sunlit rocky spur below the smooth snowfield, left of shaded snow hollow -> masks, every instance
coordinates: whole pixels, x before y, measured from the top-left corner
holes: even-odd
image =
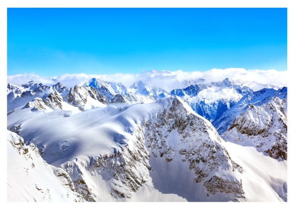
[[[132,145],[129,147],[129,145]],[[108,181],[111,189],[109,194],[113,198],[131,198],[132,192],[139,190],[148,180],[149,153],[144,145],[140,127],[128,139],[122,151],[112,155],[92,157],[89,164],[68,161],[60,167],[64,168],[72,177],[77,192],[90,202],[99,201],[93,193],[87,175],[112,177]],[[88,184],[87,184],[88,183]]]

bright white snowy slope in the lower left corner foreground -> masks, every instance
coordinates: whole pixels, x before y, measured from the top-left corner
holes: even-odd
[[[84,202],[71,177],[49,165],[33,144],[25,145],[18,134],[7,131],[7,201]]]

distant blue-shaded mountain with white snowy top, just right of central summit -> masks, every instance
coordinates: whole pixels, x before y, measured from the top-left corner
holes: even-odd
[[[234,80],[227,78],[219,82],[174,89],[171,95],[181,97],[196,113],[212,122],[250,92],[253,90],[249,87],[241,87]]]

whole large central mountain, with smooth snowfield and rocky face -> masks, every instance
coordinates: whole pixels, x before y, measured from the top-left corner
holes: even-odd
[[[245,200],[242,166],[211,123],[177,97],[70,117],[20,108],[7,118],[8,128],[17,127],[49,164],[68,172],[87,201],[143,201],[141,188],[174,201]]]

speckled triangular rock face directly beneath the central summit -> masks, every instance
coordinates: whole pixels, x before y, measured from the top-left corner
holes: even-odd
[[[172,133],[178,134],[179,139],[171,141]],[[145,123],[145,139],[154,157],[165,157],[166,161],[181,158],[183,164],[189,164],[189,170],[195,173],[196,183],[203,182],[221,165],[225,165],[225,170],[243,173],[242,167],[221,146],[221,138],[215,128],[191,113],[178,99],[174,99],[171,107],[159,113],[156,119]],[[242,189],[241,180],[234,184],[239,184]],[[237,194],[240,193],[244,192]],[[239,196],[243,197],[241,194]]]

